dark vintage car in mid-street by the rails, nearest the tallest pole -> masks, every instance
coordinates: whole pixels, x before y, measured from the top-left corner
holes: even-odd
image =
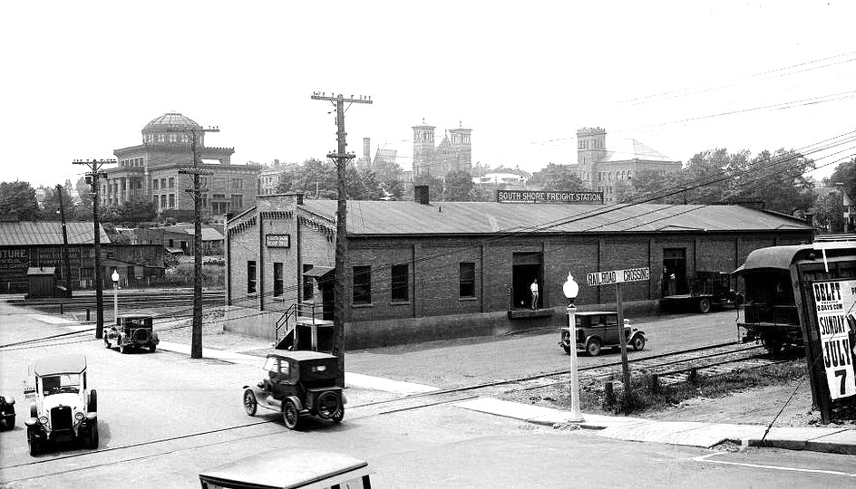
[[[279,411],[288,429],[297,429],[301,415],[338,423],[345,417],[345,396],[336,386],[338,359],[318,351],[274,350],[265,361],[266,378],[255,387],[244,386],[244,409]]]

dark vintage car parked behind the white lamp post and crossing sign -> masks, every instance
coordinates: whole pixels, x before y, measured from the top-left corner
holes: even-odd
[[[615,311],[577,312],[575,329],[577,349],[586,350],[592,357],[600,354],[603,348],[615,348],[621,344],[618,337],[618,312]],[[633,350],[645,348],[645,332],[630,326],[630,320],[624,320],[624,335],[627,346],[633,347]],[[567,326],[559,329],[559,345],[565,353],[570,353],[570,332]]]

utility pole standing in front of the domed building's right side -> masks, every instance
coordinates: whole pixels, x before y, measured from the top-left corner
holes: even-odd
[[[193,330],[190,337],[190,358],[202,358],[202,194],[207,188],[199,187],[199,175],[213,175],[214,170],[210,168],[199,168],[199,146],[197,133],[219,132],[217,128],[189,128],[184,130],[190,135],[190,153],[193,158],[193,166],[181,168],[180,174],[193,176],[193,187],[185,188],[193,197]]]

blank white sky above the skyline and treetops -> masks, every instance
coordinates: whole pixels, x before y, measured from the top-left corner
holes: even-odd
[[[0,20],[0,181],[53,186],[114,158],[167,112],[233,164],[336,149],[315,91],[412,168],[414,125],[472,129],[472,163],[576,162],[576,131],[669,158],[798,149],[832,173],[856,153],[856,3],[770,1],[14,2]],[[848,139],[848,136],[851,138]]]

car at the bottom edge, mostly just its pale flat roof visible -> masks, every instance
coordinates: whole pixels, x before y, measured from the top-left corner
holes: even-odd
[[[370,489],[365,460],[306,449],[277,449],[250,455],[199,474],[202,489],[283,487]]]

